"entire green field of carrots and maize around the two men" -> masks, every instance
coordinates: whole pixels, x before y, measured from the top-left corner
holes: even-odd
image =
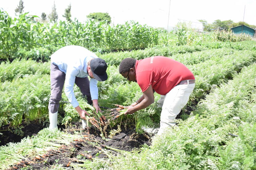
[[[2,170],[249,170],[256,169],[256,41],[230,32],[167,33],[135,22],[89,20],[42,24],[0,11],[0,169]],[[180,37],[182,36],[182,37]],[[98,82],[96,114],[77,86],[79,105],[97,120],[82,129],[64,92],[58,129],[49,130],[50,55],[81,45],[108,64]],[[192,71],[195,89],[162,136],[155,103],[133,115],[123,108],[142,92],[118,72],[122,59],[170,57]],[[104,117],[102,117],[104,116]],[[104,119],[103,119],[104,118]]]

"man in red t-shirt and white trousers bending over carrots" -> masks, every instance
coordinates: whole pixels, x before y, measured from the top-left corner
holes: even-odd
[[[133,114],[154,103],[154,92],[161,95],[158,101],[162,107],[158,135],[175,125],[174,119],[187,104],[195,87],[195,77],[185,65],[163,56],[142,60],[125,58],[119,65],[119,73],[127,80],[137,82],[143,93],[138,101],[127,107],[125,114]]]

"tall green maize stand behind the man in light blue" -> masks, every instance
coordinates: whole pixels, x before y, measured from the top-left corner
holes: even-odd
[[[19,51],[24,54],[34,49],[30,57],[46,61],[49,57],[45,56],[46,53],[51,54],[66,45],[80,45],[101,53],[145,49],[158,44],[161,32],[153,27],[139,25],[138,22],[126,22],[114,27],[94,20],[85,23],[78,20],[39,23],[31,20],[27,13],[12,19],[2,11],[0,21],[0,58],[3,60],[13,60],[20,57],[17,56]]]

